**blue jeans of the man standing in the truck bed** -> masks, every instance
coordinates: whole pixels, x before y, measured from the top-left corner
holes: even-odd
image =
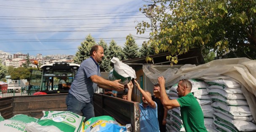
[[[85,120],[87,121],[91,117],[94,117],[93,101],[90,103],[82,103],[78,101],[75,96],[68,93],[66,98],[67,111],[80,114],[82,111]]]

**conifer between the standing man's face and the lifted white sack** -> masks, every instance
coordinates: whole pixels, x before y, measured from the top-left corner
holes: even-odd
[[[103,39],[101,39],[98,44],[104,49],[104,57],[102,62],[100,63],[100,69],[102,72],[109,72],[111,69],[113,69],[113,67],[110,65],[111,59],[109,58],[109,48],[107,46],[107,43]]]

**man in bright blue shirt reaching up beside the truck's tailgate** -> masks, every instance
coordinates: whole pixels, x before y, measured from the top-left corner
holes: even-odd
[[[141,132],[160,132],[157,120],[157,104],[151,98],[149,91],[141,89],[139,83],[134,80],[136,87],[142,94],[143,103],[139,104],[140,108],[140,131]]]

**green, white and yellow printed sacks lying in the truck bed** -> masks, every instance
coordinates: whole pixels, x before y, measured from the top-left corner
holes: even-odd
[[[17,114],[10,119],[0,115],[1,132],[130,132],[131,124],[121,126],[111,116],[85,117],[69,111],[43,111],[43,117],[36,119]]]

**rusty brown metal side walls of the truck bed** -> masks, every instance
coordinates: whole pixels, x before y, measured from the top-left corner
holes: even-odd
[[[0,113],[5,119],[16,114],[40,118],[42,111],[66,111],[66,96],[67,93],[0,98]],[[132,132],[140,131],[138,102],[94,93],[93,105],[95,116],[112,116],[122,125],[131,124]]]

